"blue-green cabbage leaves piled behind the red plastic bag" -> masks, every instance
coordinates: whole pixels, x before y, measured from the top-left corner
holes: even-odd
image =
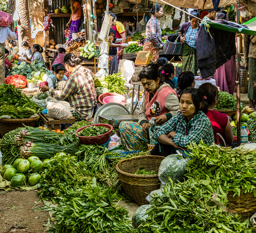
[[[34,73],[37,71],[40,71],[41,73],[46,73],[47,75],[50,75],[52,73],[50,70],[47,69],[46,65],[44,65],[43,62],[35,59],[33,62],[31,62],[30,65],[19,65],[13,68],[11,75],[23,75],[27,79],[31,80],[33,78]]]

